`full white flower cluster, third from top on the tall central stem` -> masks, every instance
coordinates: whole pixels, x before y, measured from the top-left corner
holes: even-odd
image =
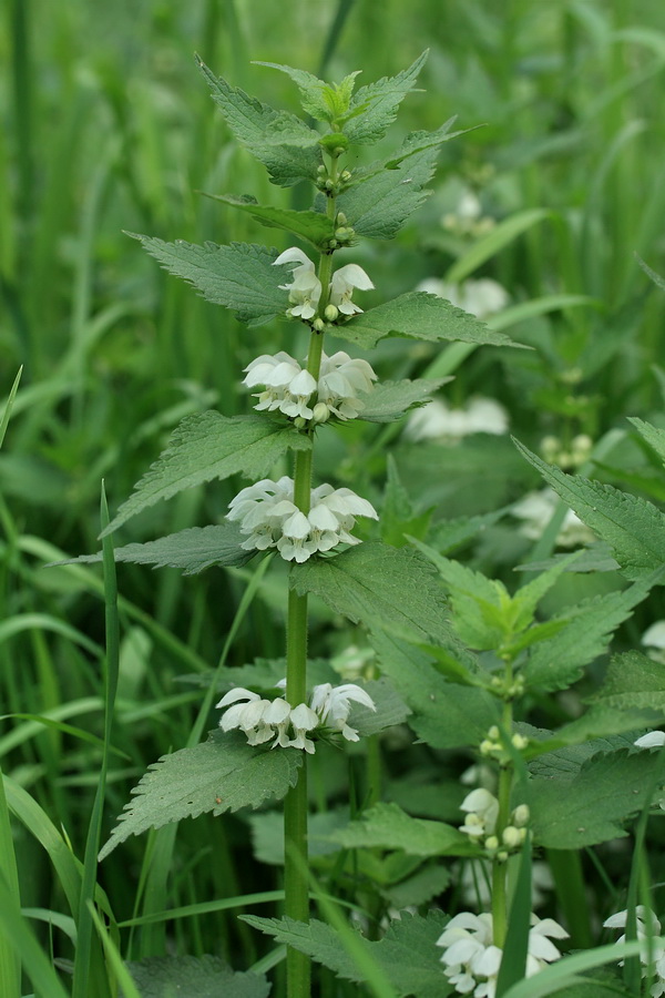
[[[359,544],[349,531],[356,517],[378,520],[374,506],[351,489],[323,485],[311,490],[310,509],[304,513],[294,502],[294,481],[264,478],[242,489],[228,503],[227,519],[238,520],[241,533],[248,534],[242,548],[265,551],[277,548],[286,561],[307,561],[317,551],[339,543]]]

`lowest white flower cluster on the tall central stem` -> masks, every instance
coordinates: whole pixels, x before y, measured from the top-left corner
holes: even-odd
[[[376,711],[371,696],[354,683],[341,686],[323,683],[314,688],[309,705],[299,703],[295,707],[282,697],[263,700],[258,693],[238,688],[229,690],[217,704],[228,707],[219,720],[219,727],[223,731],[239,729],[247,735],[249,745],[263,745],[274,739],[272,748],[280,745],[313,753],[314,742],[307,734],[315,727],[331,729],[349,742],[358,741],[358,732],[347,724],[352,702]]]

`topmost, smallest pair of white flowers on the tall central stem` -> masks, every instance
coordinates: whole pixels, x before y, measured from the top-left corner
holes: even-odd
[[[311,319],[315,317],[320,297],[323,294],[321,282],[316,276],[316,267],[308,256],[301,249],[291,246],[280,253],[274,264],[297,264],[293,267],[290,284],[280,284],[283,291],[288,292],[288,301],[291,308],[287,309],[288,315],[294,318]],[[335,322],[337,316],[355,315],[362,312],[351,302],[354,288],[359,291],[370,291],[374,284],[358,264],[347,264],[332,274],[329,286],[328,306],[326,308],[326,318]],[[332,310],[328,313],[328,308]]]

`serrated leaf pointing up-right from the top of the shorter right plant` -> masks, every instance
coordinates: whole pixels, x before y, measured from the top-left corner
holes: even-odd
[[[569,623],[553,638],[540,643],[524,664],[522,674],[528,685],[541,690],[561,690],[575,682],[582,669],[603,654],[616,628],[646,598],[659,578],[659,571],[623,592],[583,600],[560,618]]]

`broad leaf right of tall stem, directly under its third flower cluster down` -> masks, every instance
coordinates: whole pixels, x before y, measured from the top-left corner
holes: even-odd
[[[381,627],[427,640],[446,635],[444,599],[427,561],[408,548],[376,541],[332,558],[294,564],[290,584],[313,592],[354,623]]]

